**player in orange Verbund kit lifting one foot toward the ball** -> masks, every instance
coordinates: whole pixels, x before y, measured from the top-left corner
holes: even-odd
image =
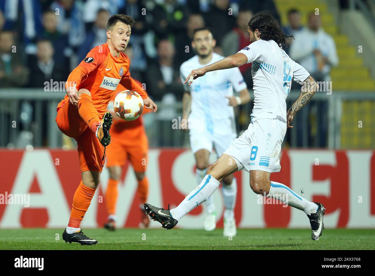
[[[129,58],[122,53],[134,22],[132,17],[122,14],[108,19],[107,43],[93,48],[71,72],[65,85],[66,96],[57,106],[57,126],[77,141],[82,173],[69,223],[63,232],[63,240],[69,243],[98,243],[83,234],[80,224],[100,182],[105,146],[111,142],[112,115],[106,110],[117,85],[136,91],[147,109],[157,110],[156,104],[130,77]]]

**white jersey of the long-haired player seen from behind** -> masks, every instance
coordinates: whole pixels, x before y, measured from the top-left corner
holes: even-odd
[[[290,92],[292,78],[301,84],[309,77],[309,72],[292,60],[273,40],[260,39],[238,53],[245,54],[248,63],[252,62],[251,73],[254,83],[252,121],[276,118],[287,122],[285,100]]]

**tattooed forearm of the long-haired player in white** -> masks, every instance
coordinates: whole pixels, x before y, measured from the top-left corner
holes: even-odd
[[[287,112],[288,128],[293,127],[292,125],[290,125],[293,121],[293,116],[296,115],[296,113],[311,100],[311,98],[315,95],[315,92],[317,92],[318,88],[319,87],[317,82],[314,80],[314,78],[311,77],[311,75],[309,75],[309,77],[306,78],[305,81],[303,81],[299,97]]]

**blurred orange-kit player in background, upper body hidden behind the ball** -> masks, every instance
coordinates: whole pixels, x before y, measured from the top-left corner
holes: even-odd
[[[129,49],[126,49],[126,53],[131,59],[131,54],[129,54]],[[130,52],[131,53],[131,52]],[[142,84],[135,80],[135,82],[142,87]],[[116,94],[120,93],[126,88],[117,89]],[[129,159],[133,166],[135,177],[138,181],[138,197],[140,203],[141,211],[141,226],[147,227],[150,223],[150,219],[145,214],[143,209],[143,204],[146,203],[148,194],[148,179],[145,176],[146,164],[147,164],[147,151],[148,151],[148,139],[146,136],[145,129],[143,127],[142,118],[139,117],[134,121],[124,121],[114,115],[113,112],[113,101],[115,95],[113,96],[110,104],[108,104],[108,110],[113,114],[114,121],[111,128],[111,136],[113,138],[113,143],[107,149],[107,163],[106,166],[110,172],[110,179],[108,181],[107,190],[105,192],[105,199],[108,212],[108,221],[105,223],[104,228],[114,231],[116,228],[115,216],[116,202],[117,202],[117,184],[121,177],[122,167],[126,161]],[[143,109],[143,114],[150,112],[148,109]],[[142,116],[141,115],[141,116]]]

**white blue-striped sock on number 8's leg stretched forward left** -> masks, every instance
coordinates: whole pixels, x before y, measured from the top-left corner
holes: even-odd
[[[213,176],[205,175],[198,187],[190,192],[180,205],[170,210],[172,217],[180,220],[181,217],[185,216],[199,204],[205,202],[219,186],[220,182]]]

